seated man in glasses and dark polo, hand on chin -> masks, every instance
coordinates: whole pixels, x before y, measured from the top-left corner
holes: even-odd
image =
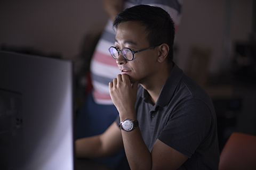
[[[122,74],[109,91],[119,116],[103,134],[78,139],[77,156],[107,156],[124,146],[131,169],[218,169],[214,108],[172,62],[170,15],[138,5],[119,13],[113,25],[115,47],[109,52]]]

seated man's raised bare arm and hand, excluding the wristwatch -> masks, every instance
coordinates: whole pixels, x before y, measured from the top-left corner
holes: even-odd
[[[119,112],[120,121],[125,118],[137,120],[135,114],[135,100],[137,97],[137,83],[131,86],[128,75],[117,75],[109,83],[110,96]],[[177,150],[156,140],[150,153],[142,139],[140,128],[131,132],[122,131],[125,154],[131,169],[177,169],[188,157]]]

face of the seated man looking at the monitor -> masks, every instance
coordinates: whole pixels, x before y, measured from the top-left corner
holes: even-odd
[[[133,51],[149,47],[145,26],[139,22],[122,22],[118,25],[115,47],[118,50],[130,48]],[[126,61],[120,54],[116,60],[122,74],[130,77],[131,83],[147,83],[154,80],[157,63],[157,47],[134,54],[132,61]],[[153,78],[153,79],[152,79]]]

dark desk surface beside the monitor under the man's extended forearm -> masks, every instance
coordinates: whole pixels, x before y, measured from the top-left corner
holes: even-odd
[[[94,162],[91,159],[77,158],[75,160],[75,170],[113,170],[105,165]]]

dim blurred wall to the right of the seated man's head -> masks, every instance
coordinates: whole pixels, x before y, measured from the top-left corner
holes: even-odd
[[[252,0],[184,1],[183,17],[177,32],[176,60],[184,69],[193,45],[212,50],[210,72],[229,66],[236,41],[246,41],[252,31]],[[226,52],[228,50],[228,52]]]

